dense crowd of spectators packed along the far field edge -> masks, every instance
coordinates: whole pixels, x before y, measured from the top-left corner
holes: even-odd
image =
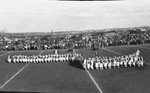
[[[0,35],[0,51],[47,50],[137,45],[150,43],[150,28],[111,29],[75,34]]]

